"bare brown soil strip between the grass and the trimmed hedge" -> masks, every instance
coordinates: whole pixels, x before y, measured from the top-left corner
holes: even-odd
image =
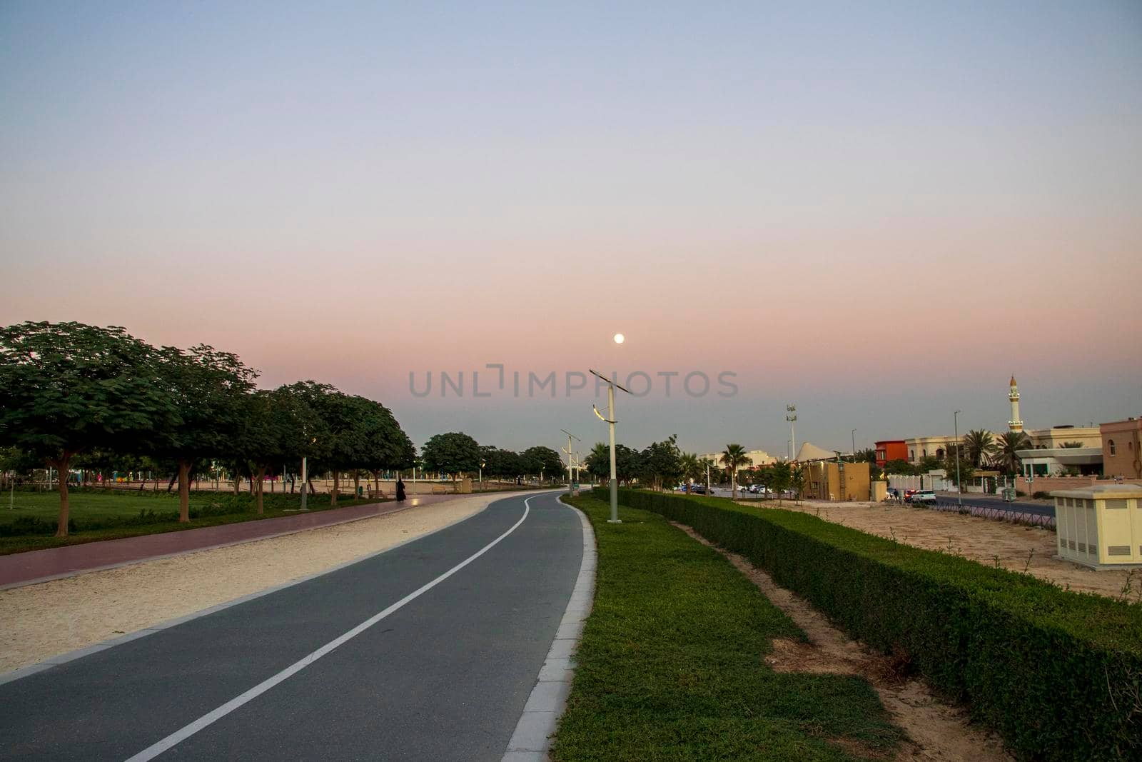
[[[689,527],[674,526],[699,543],[711,545]],[[765,661],[778,672],[860,675],[868,680],[892,721],[908,733],[909,740],[901,746],[896,760],[998,762],[1014,759],[1004,752],[998,736],[971,724],[963,709],[938,699],[923,681],[902,676],[901,665],[891,656],[874,653],[850,640],[803,599],[779,587],[765,571],[737,553],[717,550],[809,635],[809,643],[774,640],[773,652]],[[849,751],[876,756],[872,749],[850,747]]]

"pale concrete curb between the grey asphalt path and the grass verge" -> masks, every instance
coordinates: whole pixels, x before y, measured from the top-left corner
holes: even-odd
[[[560,503],[563,503],[562,497]],[[582,524],[582,562],[579,566],[579,577],[576,579],[574,589],[571,591],[571,600],[563,612],[552,648],[547,651],[547,659],[539,671],[536,687],[531,690],[520,722],[515,725],[515,732],[512,733],[512,740],[507,744],[502,762],[544,762],[548,759],[550,737],[555,733],[571,692],[574,651],[579,645],[584,621],[590,615],[595,600],[595,567],[598,561],[595,530],[592,529],[582,511],[568,503],[563,504],[579,514],[579,522]]]

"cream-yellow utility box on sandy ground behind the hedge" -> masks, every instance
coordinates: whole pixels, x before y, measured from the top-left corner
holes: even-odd
[[[1094,569],[1142,566],[1142,487],[1100,484],[1051,497],[1061,558]]]

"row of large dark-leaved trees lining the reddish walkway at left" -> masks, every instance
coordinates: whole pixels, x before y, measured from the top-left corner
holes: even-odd
[[[67,478],[77,456],[147,456],[177,470],[179,518],[190,521],[195,464],[262,476],[309,458],[314,471],[402,468],[412,442],[392,412],[328,384],[258,390],[258,372],[207,345],[154,347],[122,328],[24,322],[0,329],[0,447],[56,468],[58,536],[67,532]]]

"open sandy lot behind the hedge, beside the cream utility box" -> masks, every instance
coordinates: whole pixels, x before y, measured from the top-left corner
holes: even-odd
[[[1029,573],[1076,592],[1097,593],[1110,597],[1142,600],[1142,570],[1095,571],[1070,561],[1054,558],[1057,552],[1055,532],[1042,527],[1024,527],[958,513],[912,508],[890,503],[802,503],[788,500],[772,504],[741,503],[761,510],[769,507],[802,511],[819,515],[871,535],[892,538],[930,551],[955,553],[987,566],[996,563],[1012,571]],[[1032,553],[1034,551],[1034,553]]]

